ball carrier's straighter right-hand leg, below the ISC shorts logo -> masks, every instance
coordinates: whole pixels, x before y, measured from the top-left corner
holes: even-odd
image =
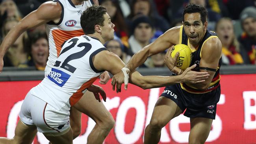
[[[190,118],[189,144],[204,144],[211,130],[213,119]]]

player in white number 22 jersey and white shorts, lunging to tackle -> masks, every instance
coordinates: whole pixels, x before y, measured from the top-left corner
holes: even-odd
[[[68,122],[70,107],[90,88],[100,72],[107,70],[116,74],[123,68],[122,60],[103,46],[114,38],[115,27],[106,8],[87,8],[81,16],[81,25],[87,35],[65,42],[51,72],[26,95],[14,140],[16,137],[26,137],[37,128],[53,144],[71,144],[72,130]],[[141,76],[134,71],[130,74],[130,83],[149,89],[180,82],[198,83],[208,78],[207,72],[193,72],[192,68],[195,65],[179,76]],[[7,138],[1,140],[7,141]]]

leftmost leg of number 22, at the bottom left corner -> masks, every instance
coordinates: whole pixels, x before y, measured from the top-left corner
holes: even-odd
[[[36,133],[36,126],[26,125],[19,120],[15,128],[15,136],[11,139],[0,138],[0,144],[31,144]]]

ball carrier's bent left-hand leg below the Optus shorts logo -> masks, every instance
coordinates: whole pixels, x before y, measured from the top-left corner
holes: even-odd
[[[157,144],[161,137],[161,129],[174,117],[180,115],[182,110],[169,98],[160,96],[150,120],[145,129],[145,144]]]

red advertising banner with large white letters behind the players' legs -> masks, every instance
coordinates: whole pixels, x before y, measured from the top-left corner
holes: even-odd
[[[0,82],[0,137],[12,138],[19,120],[20,106],[26,93],[40,81]],[[96,85],[100,85],[98,81]],[[111,84],[100,85],[107,93],[107,109],[116,124],[104,144],[142,144],[145,126],[150,121],[156,100],[164,88],[143,90],[129,85],[117,94]],[[82,133],[74,144],[86,144],[95,122],[82,116]],[[189,118],[180,115],[161,131],[160,144],[188,143]],[[48,144],[42,133],[37,133],[34,144]],[[221,75],[221,98],[216,119],[206,143],[256,143],[256,74]]]

